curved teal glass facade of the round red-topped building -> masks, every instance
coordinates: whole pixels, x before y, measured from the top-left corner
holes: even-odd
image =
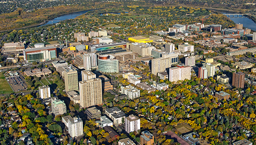
[[[109,59],[98,59],[98,70],[103,73],[119,72],[119,61]]]

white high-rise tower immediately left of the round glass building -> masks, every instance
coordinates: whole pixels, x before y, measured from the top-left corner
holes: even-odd
[[[83,55],[83,65],[85,70],[91,70],[96,68],[97,64],[97,54],[96,53],[86,53]]]

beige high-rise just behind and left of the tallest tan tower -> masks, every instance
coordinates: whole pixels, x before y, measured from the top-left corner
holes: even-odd
[[[64,70],[64,81],[66,92],[79,91],[77,71],[75,69],[69,67],[68,69]]]

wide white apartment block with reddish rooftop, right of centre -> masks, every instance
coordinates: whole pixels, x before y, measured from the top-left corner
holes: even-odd
[[[179,80],[191,79],[191,66],[177,65],[169,70],[169,81],[177,82]]]

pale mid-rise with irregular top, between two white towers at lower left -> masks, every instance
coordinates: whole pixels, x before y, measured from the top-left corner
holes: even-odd
[[[58,97],[51,98],[51,107],[52,107],[52,113],[57,115],[62,115],[67,113],[67,107],[64,101],[58,99]]]

